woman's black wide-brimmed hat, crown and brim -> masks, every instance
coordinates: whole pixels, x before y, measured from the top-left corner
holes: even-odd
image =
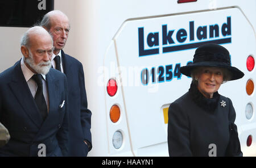
[[[188,77],[191,77],[191,71],[200,66],[217,67],[229,70],[232,74],[229,81],[240,79],[243,77],[243,72],[230,64],[229,51],[218,44],[205,44],[196,49],[193,63],[187,66],[182,66],[180,72]]]

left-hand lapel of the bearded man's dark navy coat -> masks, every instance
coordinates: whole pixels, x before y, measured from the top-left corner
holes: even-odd
[[[22,73],[20,67],[20,61],[14,65],[14,76],[13,80],[9,83],[13,94],[18,99],[20,106],[34,122],[34,124],[40,128],[43,122],[42,116],[39,113],[38,108],[36,107],[35,100],[31,94],[31,91],[27,85],[26,79]]]

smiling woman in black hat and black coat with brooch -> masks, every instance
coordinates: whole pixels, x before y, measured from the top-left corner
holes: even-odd
[[[244,75],[230,65],[228,50],[217,44],[202,45],[193,63],[180,72],[192,77],[192,83],[169,107],[170,156],[242,156],[232,101],[218,94],[222,83]]]

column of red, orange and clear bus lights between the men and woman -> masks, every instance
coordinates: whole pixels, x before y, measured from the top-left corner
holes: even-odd
[[[107,84],[107,92],[109,96],[113,97],[117,93],[117,89],[118,89],[117,81],[115,81],[115,79],[109,79]],[[121,116],[121,111],[117,104],[114,104],[110,108],[109,116],[112,123],[117,123],[119,121]],[[112,143],[115,149],[121,148],[123,144],[123,135],[121,131],[114,132]]]

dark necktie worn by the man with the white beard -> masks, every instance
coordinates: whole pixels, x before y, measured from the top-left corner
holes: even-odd
[[[44,99],[44,95],[43,95],[42,75],[34,74],[32,76],[32,79],[34,79],[34,81],[38,84],[38,90],[36,90],[36,94],[35,94],[35,102],[43,117],[43,120],[45,120],[48,112],[47,112],[46,100]]]

